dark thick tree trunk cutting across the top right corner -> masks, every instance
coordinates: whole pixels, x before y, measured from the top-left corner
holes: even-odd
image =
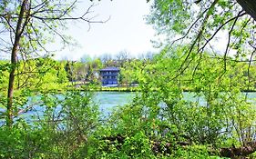
[[[242,9],[256,21],[256,2],[255,0],[237,0]]]

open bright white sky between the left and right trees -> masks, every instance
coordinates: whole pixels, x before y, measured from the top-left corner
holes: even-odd
[[[89,4],[87,1],[82,2],[76,14],[81,14]],[[105,21],[109,18],[108,22],[92,24],[90,29],[85,22],[70,24],[67,34],[77,40],[77,46],[57,52],[56,59],[78,60],[84,55],[115,55],[124,50],[133,56],[157,52],[158,49],[150,42],[154,39],[155,31],[145,20],[149,8],[146,0],[97,2],[91,15],[97,15],[95,20]]]

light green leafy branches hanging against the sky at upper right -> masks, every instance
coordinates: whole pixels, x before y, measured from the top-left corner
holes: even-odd
[[[179,64],[181,72],[189,67],[194,58],[192,53],[204,51],[222,55],[224,71],[229,56],[237,62],[252,62],[255,38],[251,33],[255,23],[236,1],[155,0],[148,24],[159,34],[167,35],[164,44],[169,48],[187,46],[183,51],[186,58]]]

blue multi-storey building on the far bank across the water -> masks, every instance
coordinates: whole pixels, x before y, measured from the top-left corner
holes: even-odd
[[[118,84],[118,74],[120,69],[118,67],[107,67],[99,70],[102,85]]]

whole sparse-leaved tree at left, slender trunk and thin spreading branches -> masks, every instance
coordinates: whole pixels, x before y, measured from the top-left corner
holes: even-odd
[[[11,55],[11,66],[8,77],[7,117],[6,124],[13,123],[13,99],[15,92],[15,77],[20,61],[38,57],[42,53],[49,55],[47,43],[59,37],[62,44],[69,44],[69,37],[63,35],[68,21],[94,21],[91,17],[90,4],[81,15],[74,14],[77,0],[2,0],[0,1],[0,50]]]

